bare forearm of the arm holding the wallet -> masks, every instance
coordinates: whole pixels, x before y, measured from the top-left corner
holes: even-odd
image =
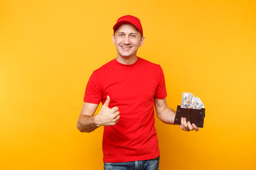
[[[173,109],[166,106],[165,108],[159,111],[156,110],[156,115],[162,122],[166,124],[174,124],[176,112]]]

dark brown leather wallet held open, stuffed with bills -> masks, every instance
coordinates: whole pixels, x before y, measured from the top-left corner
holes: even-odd
[[[203,128],[203,120],[206,117],[206,109],[181,108],[177,106],[174,124],[181,125],[181,118],[186,118],[191,124],[195,123],[198,128]]]

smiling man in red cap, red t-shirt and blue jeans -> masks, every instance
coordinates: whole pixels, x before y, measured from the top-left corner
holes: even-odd
[[[160,65],[137,57],[145,40],[139,18],[122,16],[113,30],[117,58],[92,73],[78,129],[92,132],[104,126],[105,169],[158,169],[154,106],[164,123],[174,124],[176,115],[166,104],[164,72]],[[100,101],[102,108],[94,115]],[[181,118],[181,129],[198,131],[185,118]]]

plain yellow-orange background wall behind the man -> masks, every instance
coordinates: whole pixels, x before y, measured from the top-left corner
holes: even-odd
[[[256,169],[255,1],[0,1],[0,169],[102,169],[102,130],[76,128],[87,80],[131,14],[167,102],[206,106],[204,128],[156,120],[160,169]]]

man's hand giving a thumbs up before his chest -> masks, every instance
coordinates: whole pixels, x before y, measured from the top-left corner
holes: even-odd
[[[115,106],[114,108],[109,108],[110,104],[110,96],[107,96],[107,100],[102,105],[102,108],[100,109],[100,113],[95,115],[95,123],[97,126],[102,125],[115,125],[119,118],[119,108]]]

